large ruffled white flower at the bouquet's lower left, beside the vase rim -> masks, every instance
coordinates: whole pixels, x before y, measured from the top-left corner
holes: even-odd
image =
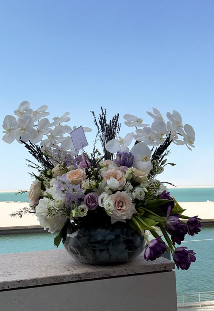
[[[48,216],[48,209],[52,209],[53,201],[47,197],[40,199],[39,204],[36,206],[36,216],[40,222],[40,226],[44,227],[44,230],[48,228],[48,232],[54,233],[57,230],[61,230],[66,222],[66,217],[61,213],[55,213],[55,215]]]

